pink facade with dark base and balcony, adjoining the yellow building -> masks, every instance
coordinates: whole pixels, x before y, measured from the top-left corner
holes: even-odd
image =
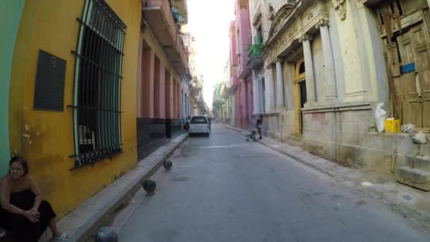
[[[188,53],[172,7],[170,1],[144,4],[136,90],[139,161],[180,134],[182,120],[189,114]],[[180,9],[186,13],[186,5]]]

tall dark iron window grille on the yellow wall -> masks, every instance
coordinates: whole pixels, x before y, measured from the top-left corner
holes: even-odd
[[[76,51],[74,168],[122,153],[121,69],[127,28],[104,0],[86,0]]]

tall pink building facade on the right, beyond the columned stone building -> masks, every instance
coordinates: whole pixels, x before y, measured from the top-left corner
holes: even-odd
[[[241,129],[249,129],[253,105],[252,76],[250,69],[246,67],[247,48],[252,45],[248,1],[236,1],[235,17],[231,25],[231,66],[234,70],[231,72],[231,83],[235,100],[235,125]]]

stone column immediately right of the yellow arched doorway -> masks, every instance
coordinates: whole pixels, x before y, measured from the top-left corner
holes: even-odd
[[[310,40],[312,36],[305,34],[299,38],[299,41],[303,44],[303,54],[305,56],[305,69],[306,69],[306,96],[308,100],[306,103],[315,103],[315,79],[313,76],[313,61],[312,61],[312,50],[310,50]]]

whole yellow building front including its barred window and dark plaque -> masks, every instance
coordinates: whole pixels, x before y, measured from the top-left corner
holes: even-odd
[[[11,155],[59,216],[136,164],[140,0],[26,1],[11,70]]]

